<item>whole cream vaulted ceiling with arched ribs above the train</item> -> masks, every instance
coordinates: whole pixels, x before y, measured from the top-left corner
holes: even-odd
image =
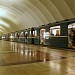
[[[0,0],[0,34],[74,16],[75,0]]]

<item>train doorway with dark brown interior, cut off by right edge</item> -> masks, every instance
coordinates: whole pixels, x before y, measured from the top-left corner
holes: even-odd
[[[75,23],[68,25],[68,47],[75,48]]]

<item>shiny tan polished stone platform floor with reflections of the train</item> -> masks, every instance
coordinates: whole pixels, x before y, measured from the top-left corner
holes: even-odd
[[[75,75],[75,51],[0,40],[0,75]]]

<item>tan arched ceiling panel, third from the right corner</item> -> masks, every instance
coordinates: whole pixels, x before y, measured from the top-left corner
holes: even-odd
[[[63,16],[50,0],[40,0],[40,2],[52,14],[52,16],[55,18],[55,21],[63,20]]]

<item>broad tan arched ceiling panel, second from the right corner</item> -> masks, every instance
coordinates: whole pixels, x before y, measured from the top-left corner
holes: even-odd
[[[51,0],[59,10],[64,19],[72,18],[74,15],[64,0]]]

